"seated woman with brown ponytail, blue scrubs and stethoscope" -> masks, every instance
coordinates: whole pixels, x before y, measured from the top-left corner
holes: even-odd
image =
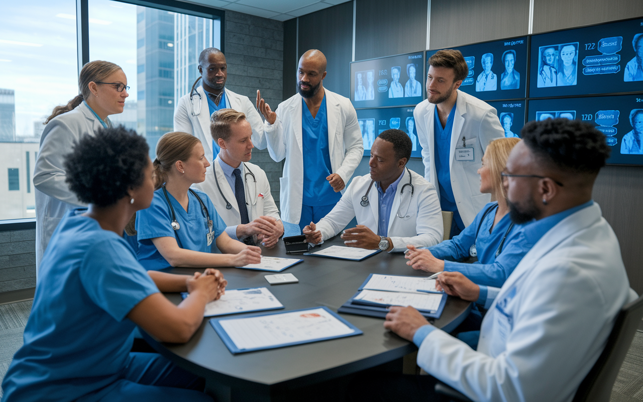
[[[261,262],[261,249],[231,239],[210,198],[190,188],[205,180],[208,166],[201,141],[191,134],[168,132],[156,145],[154,199],[136,213],[138,260],[146,270]],[[210,252],[213,241],[224,254]]]

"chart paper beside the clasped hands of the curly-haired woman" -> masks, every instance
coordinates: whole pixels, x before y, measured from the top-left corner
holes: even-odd
[[[181,296],[186,298],[188,293],[181,293]],[[267,288],[226,289],[226,294],[219,300],[213,300],[205,305],[203,316],[212,317],[283,308],[284,306]]]

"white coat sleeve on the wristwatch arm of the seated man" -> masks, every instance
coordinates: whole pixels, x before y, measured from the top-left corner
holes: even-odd
[[[390,252],[406,251],[406,244],[413,244],[416,247],[431,247],[442,241],[444,237],[444,223],[442,221],[442,208],[437,192],[433,185],[427,183],[428,187],[420,194],[417,201],[417,219],[415,220],[415,233],[413,237],[393,237],[393,250]],[[395,216],[395,219],[399,219]],[[409,224],[411,224],[409,222]]]

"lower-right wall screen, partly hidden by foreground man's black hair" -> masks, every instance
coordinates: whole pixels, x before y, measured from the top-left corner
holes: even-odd
[[[643,165],[643,95],[532,99],[529,120],[566,117],[590,122],[607,136],[610,165]]]

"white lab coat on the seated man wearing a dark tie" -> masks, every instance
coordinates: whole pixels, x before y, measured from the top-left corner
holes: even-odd
[[[219,179],[219,187],[221,187],[221,192],[223,196],[226,197],[232,208],[226,209],[226,201],[224,201],[219,189],[217,189],[217,183],[214,179],[214,167],[216,165],[216,174],[217,179]],[[247,180],[244,180],[244,193],[246,194],[246,208],[248,208],[248,217],[250,222],[254,221],[258,217],[265,215],[271,216],[275,219],[281,220],[279,217],[279,210],[275,205],[275,200],[273,199],[272,194],[270,193],[270,183],[268,183],[268,178],[266,177],[266,172],[257,165],[246,162],[247,169],[242,171],[242,176],[245,176],[246,173],[251,171],[257,179],[257,187],[255,192],[255,183],[252,179],[252,176],[248,174],[246,176]],[[237,204],[237,199],[235,198],[235,193],[230,187],[230,183],[226,179],[226,176],[221,170],[218,160],[214,160],[212,165],[206,169],[205,180],[202,183],[196,183],[192,187],[198,188],[203,191],[205,194],[208,194],[210,200],[214,204],[217,214],[223,219],[226,223],[226,226],[235,226],[241,224],[241,215],[239,214],[239,205]],[[256,196],[256,197],[255,197]],[[255,203],[256,202],[256,203]],[[253,205],[255,203],[255,205]]]

